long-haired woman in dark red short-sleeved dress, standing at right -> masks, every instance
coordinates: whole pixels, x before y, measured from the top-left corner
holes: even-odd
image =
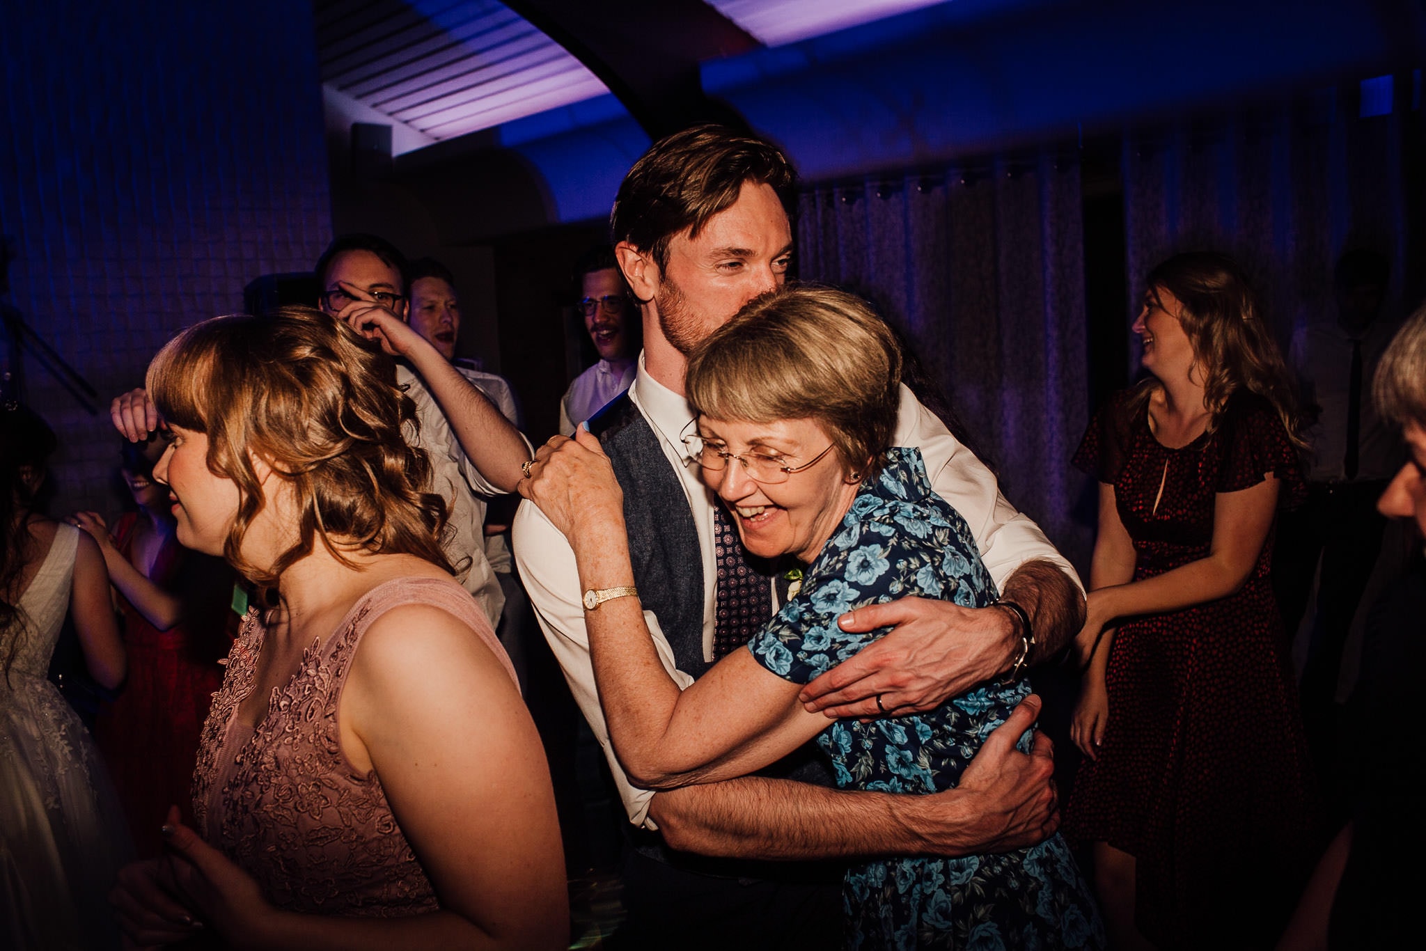
[[[1306,492],[1296,411],[1232,259],[1181,254],[1147,284],[1148,376],[1074,458],[1099,480],[1099,533],[1065,833],[1092,844],[1115,947],[1259,947],[1315,833],[1269,579],[1273,516]]]

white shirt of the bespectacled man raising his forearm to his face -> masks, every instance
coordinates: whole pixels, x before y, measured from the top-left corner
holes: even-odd
[[[455,569],[455,580],[481,603],[493,627],[505,607],[505,592],[485,555],[485,499],[502,495],[465,455],[451,423],[421,376],[396,362],[396,384],[416,403],[419,433],[408,431],[408,442],[431,456],[431,490],[446,500],[449,518],[441,548]]]

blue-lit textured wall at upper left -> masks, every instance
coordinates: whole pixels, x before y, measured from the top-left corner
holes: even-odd
[[[244,284],[309,268],[331,238],[312,13],[7,4],[0,70],[9,301],[98,391],[91,413],[24,358],[27,399],[61,436],[53,509],[110,512],[110,398],[174,331],[240,309]]]

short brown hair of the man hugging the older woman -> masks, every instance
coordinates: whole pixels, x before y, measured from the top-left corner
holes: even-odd
[[[669,241],[696,238],[737,201],[744,181],[771,185],[790,207],[797,173],[780,148],[724,125],[693,125],[649,147],[619,185],[609,230],[615,242],[647,251],[665,268]]]

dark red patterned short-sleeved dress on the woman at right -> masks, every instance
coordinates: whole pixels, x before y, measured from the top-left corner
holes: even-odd
[[[1281,505],[1305,495],[1266,399],[1236,392],[1214,432],[1181,449],[1154,438],[1147,402],[1131,413],[1129,401],[1124,392],[1099,411],[1074,462],[1114,485],[1135,580],[1209,553],[1216,493],[1272,472]],[[1318,854],[1271,565],[1269,535],[1236,595],[1121,624],[1104,747],[1065,807],[1072,840],[1138,860],[1135,921],[1161,948],[1271,947]]]

